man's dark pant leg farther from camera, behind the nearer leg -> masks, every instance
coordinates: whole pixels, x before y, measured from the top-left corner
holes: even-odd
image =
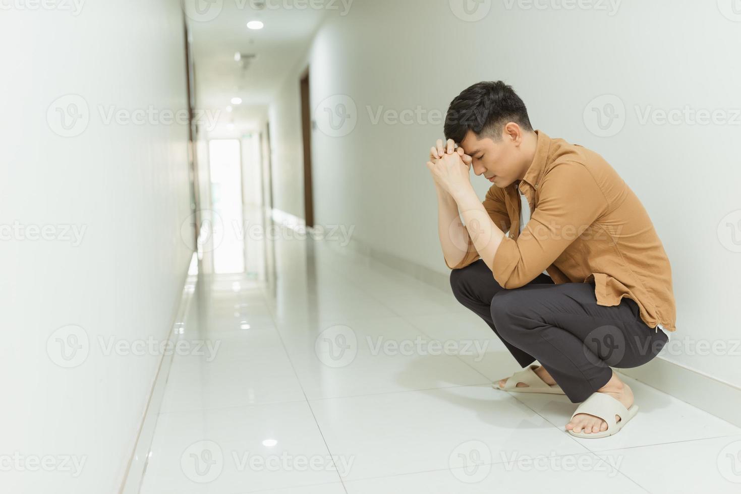
[[[531,284],[541,283],[553,285],[554,281],[550,276],[542,273],[531,281]],[[491,320],[491,299],[494,298],[496,293],[504,289],[496,282],[491,270],[482,259],[461,269],[453,270],[451,272],[451,288],[456,299],[478,314],[496,333],[496,336],[499,336],[499,339],[514,356],[520,367],[526,367],[535,361],[533,356],[502,338],[496,330],[494,321]]]

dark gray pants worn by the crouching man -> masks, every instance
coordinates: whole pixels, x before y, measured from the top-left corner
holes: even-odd
[[[639,367],[668,340],[642,321],[630,298],[613,307],[597,305],[594,282],[554,284],[540,274],[524,287],[505,290],[479,259],[453,270],[451,287],[522,368],[537,359],[573,403],[607,384],[611,367]]]

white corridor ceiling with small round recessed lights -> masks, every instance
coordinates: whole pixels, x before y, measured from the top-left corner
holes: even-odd
[[[197,105],[199,109],[221,111],[219,124],[209,133],[210,137],[242,136],[257,130],[265,121],[268,104],[304,55],[327,13],[327,10],[291,8],[296,4],[301,2],[216,0],[210,4],[216,10],[201,16],[191,15],[185,7],[196,72]],[[247,21],[253,20],[264,22],[265,27],[247,29]],[[238,62],[234,60],[237,52],[256,57]],[[242,104],[230,104],[236,96],[242,99]],[[233,110],[227,113],[230,105]],[[233,123],[233,127],[227,127],[228,123]]]

